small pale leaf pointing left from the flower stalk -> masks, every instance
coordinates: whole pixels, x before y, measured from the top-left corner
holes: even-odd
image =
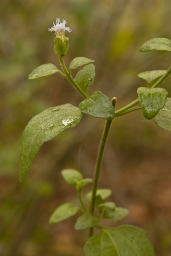
[[[51,63],[40,65],[34,69],[30,75],[28,75],[28,80],[36,79],[39,77],[46,77],[47,75],[52,75],[58,72],[59,69]]]

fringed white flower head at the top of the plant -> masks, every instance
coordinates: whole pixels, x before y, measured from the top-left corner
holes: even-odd
[[[65,31],[72,31],[70,27],[66,27],[66,23],[66,19],[63,19],[63,21],[60,22],[60,18],[57,18],[56,24],[53,22],[54,26],[52,26],[51,29],[48,29],[48,31],[55,31],[56,37],[60,38],[64,42],[66,41]]]

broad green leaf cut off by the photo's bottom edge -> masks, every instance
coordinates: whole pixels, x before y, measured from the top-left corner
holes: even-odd
[[[103,229],[88,239],[86,256],[154,256],[146,233],[134,226]]]

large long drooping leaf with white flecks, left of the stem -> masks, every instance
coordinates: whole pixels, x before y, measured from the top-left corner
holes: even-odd
[[[19,159],[19,178],[21,181],[43,142],[49,141],[69,127],[76,126],[81,118],[82,113],[78,107],[64,104],[44,110],[28,122],[21,139]]]

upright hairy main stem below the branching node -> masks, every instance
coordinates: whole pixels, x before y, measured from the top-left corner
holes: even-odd
[[[101,160],[103,158],[104,147],[105,147],[105,143],[107,141],[107,137],[108,137],[108,133],[109,133],[111,123],[112,123],[112,120],[107,120],[106,123],[105,123],[103,136],[101,138],[99,153],[98,153],[98,156],[97,156],[95,177],[94,177],[93,189],[92,189],[92,199],[91,199],[91,214],[92,215],[93,215],[94,209],[95,209],[96,190],[97,190],[97,184],[98,184],[98,180],[99,180]],[[92,234],[93,234],[93,227],[91,227],[89,229],[89,237],[92,237]]]

